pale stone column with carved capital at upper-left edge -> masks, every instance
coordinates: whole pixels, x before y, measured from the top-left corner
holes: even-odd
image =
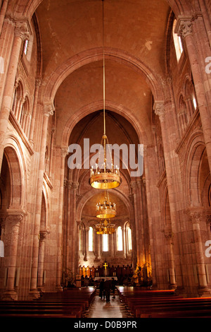
[[[6,78],[6,84],[4,88],[4,96],[1,105],[0,112],[0,167],[4,155],[4,139],[6,137],[6,130],[8,124],[8,117],[11,112],[13,103],[13,90],[15,85],[15,76],[18,69],[18,60],[20,56],[20,49],[25,40],[29,36],[27,24],[16,23],[15,25],[15,37],[13,40],[13,49],[11,52],[11,60],[8,67],[8,74]]]

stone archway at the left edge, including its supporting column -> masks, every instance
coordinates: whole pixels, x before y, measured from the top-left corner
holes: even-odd
[[[23,210],[23,174],[20,160],[15,149],[6,146],[1,167],[1,181],[4,181],[4,206],[1,208],[3,223],[1,225],[2,241],[5,244],[4,268],[7,276],[1,275],[1,293],[3,300],[17,300],[18,294],[15,290],[15,276],[17,276],[17,253],[20,233],[20,223],[25,216]],[[8,245],[10,244],[10,245]]]

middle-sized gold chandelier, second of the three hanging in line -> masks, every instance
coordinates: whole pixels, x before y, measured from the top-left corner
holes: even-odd
[[[117,214],[117,206],[109,201],[108,193],[105,194],[103,203],[96,203],[96,217],[101,219],[114,218]]]

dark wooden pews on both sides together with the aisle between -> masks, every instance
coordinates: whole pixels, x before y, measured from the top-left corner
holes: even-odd
[[[117,286],[110,303],[95,287],[43,294],[32,301],[1,301],[0,318],[142,319],[211,318],[211,297],[181,297],[174,290]]]

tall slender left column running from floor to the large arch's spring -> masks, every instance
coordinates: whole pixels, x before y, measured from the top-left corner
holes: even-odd
[[[31,280],[30,280],[30,297],[39,297],[39,291],[37,290],[37,268],[39,257],[39,232],[40,232],[40,218],[41,218],[41,198],[42,198],[42,186],[44,179],[44,167],[45,167],[45,151],[46,151],[46,136],[49,123],[49,116],[53,115],[53,105],[46,103],[44,105],[43,124],[41,129],[41,146],[39,152],[39,170],[37,179],[37,196],[35,203],[35,215],[34,215],[34,235],[33,235],[33,247],[32,247],[32,268],[31,268]]]

